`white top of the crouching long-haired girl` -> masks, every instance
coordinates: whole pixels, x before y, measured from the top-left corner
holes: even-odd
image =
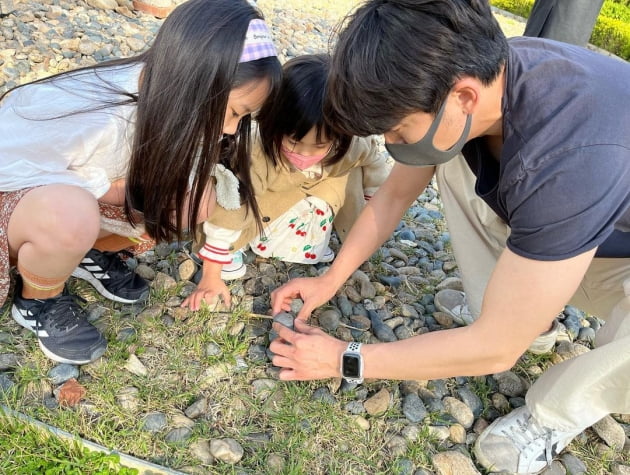
[[[142,64],[29,84],[0,103],[0,191],[67,184],[96,198],[125,177],[136,106],[109,89],[137,93]],[[109,86],[108,86],[109,85]],[[60,117],[81,110],[78,114]]]

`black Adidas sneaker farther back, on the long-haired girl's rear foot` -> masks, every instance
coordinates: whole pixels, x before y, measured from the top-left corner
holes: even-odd
[[[88,281],[103,297],[136,303],[149,296],[149,284],[129,269],[118,252],[90,249],[72,275]]]

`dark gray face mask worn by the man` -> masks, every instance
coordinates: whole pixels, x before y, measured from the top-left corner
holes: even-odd
[[[444,101],[444,104],[440,107],[440,110],[435,116],[435,120],[431,124],[431,127],[429,127],[427,133],[416,143],[385,144],[385,148],[392,158],[404,165],[411,165],[413,167],[430,167],[446,163],[461,152],[462,148],[464,148],[464,145],[466,145],[466,142],[468,141],[472,115],[468,114],[466,117],[464,131],[459,137],[457,143],[448,150],[439,150],[433,145],[433,139],[435,138],[437,128],[442,121],[444,109],[446,109],[446,101]]]

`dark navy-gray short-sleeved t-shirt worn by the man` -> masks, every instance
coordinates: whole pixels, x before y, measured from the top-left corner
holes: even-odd
[[[464,147],[476,192],[510,226],[507,246],[561,260],[599,246],[630,257],[630,64],[577,46],[512,38],[500,161]]]

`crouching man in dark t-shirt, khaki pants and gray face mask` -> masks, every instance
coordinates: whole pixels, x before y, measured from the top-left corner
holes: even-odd
[[[607,319],[597,347],[547,370],[525,406],[480,434],[477,462],[538,472],[599,419],[630,413],[628,84],[626,62],[508,42],[484,0],[360,7],[337,41],[328,117],[351,135],[384,134],[398,163],[328,272],[272,294],[274,312],[304,301],[295,331],[274,326],[280,378],[498,373],[571,303]],[[475,320],[359,347],[308,327],[434,175]]]

